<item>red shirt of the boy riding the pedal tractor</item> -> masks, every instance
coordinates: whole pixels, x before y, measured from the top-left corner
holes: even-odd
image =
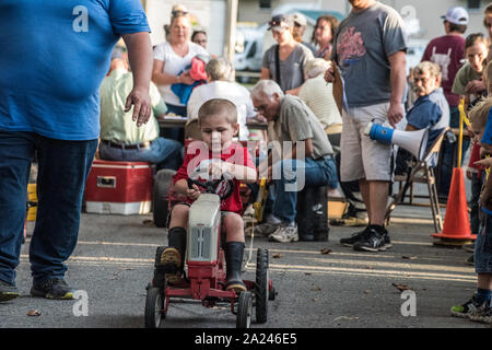
[[[178,168],[176,175],[173,177],[174,183],[176,184],[179,179],[188,179],[188,175],[191,174],[191,172],[196,170],[202,161],[211,159],[212,152],[207,148],[206,143],[201,141],[194,141],[190,145],[188,145],[185,161]],[[221,160],[235,165],[244,165],[256,170],[247,148],[244,148],[237,143],[232,143],[225,152],[221,153]],[[241,182],[236,178],[234,178],[233,182],[234,191],[230,197],[221,201],[221,210],[241,214],[243,210],[243,202],[241,201],[239,196]],[[188,203],[192,202],[189,198],[187,198],[186,201]]]

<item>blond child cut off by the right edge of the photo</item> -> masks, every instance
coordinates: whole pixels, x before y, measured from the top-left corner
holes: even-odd
[[[476,162],[488,168],[492,165],[492,97],[483,100],[470,113],[476,142],[480,143],[485,159]],[[488,172],[487,172],[488,173]],[[475,269],[478,275],[477,292],[462,305],[453,306],[452,315],[471,320],[492,323],[492,177],[487,174],[480,196],[481,232],[477,235]]]

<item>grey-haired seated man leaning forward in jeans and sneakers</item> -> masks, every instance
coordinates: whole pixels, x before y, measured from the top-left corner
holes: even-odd
[[[271,241],[295,242],[297,191],[304,186],[337,187],[333,150],[309,107],[297,96],[284,95],[274,81],[260,80],[251,90],[251,98],[258,114],[269,121],[269,141],[277,141],[283,153],[276,162],[273,150],[260,164],[260,171],[268,168],[268,178],[274,187],[274,221],[266,223],[268,229],[261,231],[263,234],[270,231]]]

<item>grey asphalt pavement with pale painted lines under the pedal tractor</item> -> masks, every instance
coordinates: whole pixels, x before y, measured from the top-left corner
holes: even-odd
[[[256,248],[268,248],[278,295],[269,303],[268,322],[251,328],[489,327],[449,316],[449,307],[476,289],[473,267],[465,264],[470,254],[432,244],[430,208],[398,207],[394,218],[388,228],[394,247],[377,254],[339,245],[359,228],[331,226],[328,242],[280,244],[255,237],[244,278],[255,279]],[[30,295],[27,240],[16,269],[22,296],[0,304],[0,327],[143,327],[145,285],[155,249],[166,243],[166,231],[153,225],[151,214],[83,213],[66,276],[82,291],[80,299],[50,301]],[[163,327],[234,328],[235,319],[229,306],[179,302],[171,304]]]

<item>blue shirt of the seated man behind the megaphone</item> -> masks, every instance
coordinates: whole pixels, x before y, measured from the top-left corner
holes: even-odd
[[[429,149],[441,131],[449,126],[449,105],[443,89],[438,88],[429,95],[417,98],[407,114],[407,121],[419,130],[429,127]]]

